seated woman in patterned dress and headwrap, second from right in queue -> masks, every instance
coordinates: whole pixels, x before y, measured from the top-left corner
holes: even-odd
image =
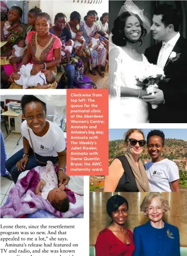
[[[83,31],[83,37],[86,41],[85,46],[89,44],[90,38],[94,36],[94,33],[98,30],[96,21],[96,11],[88,11],[85,17],[85,21],[81,21],[80,27]],[[92,55],[92,68],[97,67],[99,74],[104,77],[104,73],[101,70],[102,66],[106,63],[106,49],[91,50]]]

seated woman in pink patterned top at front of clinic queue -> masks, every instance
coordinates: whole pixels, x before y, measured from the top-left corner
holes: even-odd
[[[35,75],[41,70],[55,67],[61,59],[61,41],[49,32],[51,18],[47,13],[39,13],[35,21],[35,31],[26,37],[28,49],[21,62],[22,65],[32,63],[31,74]]]

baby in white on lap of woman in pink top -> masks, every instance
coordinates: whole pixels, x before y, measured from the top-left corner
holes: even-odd
[[[33,64],[22,65],[20,71],[10,75],[10,82],[15,82],[23,89],[28,87],[37,87],[38,89],[47,89],[56,80],[56,74],[52,70],[44,70],[38,72],[36,75],[31,75]],[[48,84],[46,84],[48,83]]]

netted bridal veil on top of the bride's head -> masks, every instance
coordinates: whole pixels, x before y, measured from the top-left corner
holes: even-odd
[[[122,14],[123,12],[128,12],[130,15],[138,15],[140,18],[140,24],[146,29],[147,34],[150,32],[150,22],[147,17],[143,14],[143,10],[140,10],[138,6],[136,6],[132,1],[127,0],[122,6],[121,10],[118,14]]]

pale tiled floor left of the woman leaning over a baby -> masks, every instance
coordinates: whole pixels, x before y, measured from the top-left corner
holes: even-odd
[[[3,131],[3,125],[2,125],[2,132],[4,138],[6,137],[6,132]],[[17,146],[17,141],[19,140],[21,136],[21,133],[11,133],[7,136],[5,139],[5,150],[7,158],[11,157],[23,148],[23,140],[19,142],[19,145]],[[8,197],[8,193],[11,190],[11,188],[14,186],[13,181],[8,180],[7,178],[1,177],[1,206],[6,202],[6,199]]]

